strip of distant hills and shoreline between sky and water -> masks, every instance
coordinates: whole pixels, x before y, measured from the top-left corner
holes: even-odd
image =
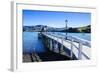
[[[36,25],[36,26],[23,26],[23,31],[31,31],[31,32],[44,32],[46,29],[47,32],[69,32],[69,33],[91,33],[91,25],[83,26],[83,27],[64,27],[64,28],[54,28],[44,25]]]

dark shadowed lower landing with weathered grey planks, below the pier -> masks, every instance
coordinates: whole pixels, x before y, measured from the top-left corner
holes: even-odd
[[[43,62],[43,61],[63,61],[63,60],[71,60],[71,59],[67,56],[55,53],[53,51],[23,55],[23,62]]]

